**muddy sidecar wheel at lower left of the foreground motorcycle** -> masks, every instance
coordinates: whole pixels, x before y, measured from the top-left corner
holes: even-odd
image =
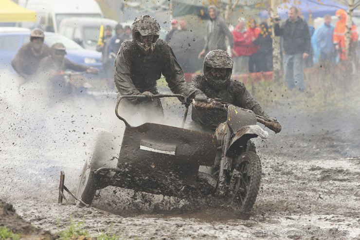
[[[95,196],[97,185],[99,184],[99,177],[91,171],[90,167],[85,164],[83,171],[80,176],[79,185],[76,191],[76,197],[81,199],[86,204],[91,204]],[[84,206],[83,203],[79,202],[79,206]]]

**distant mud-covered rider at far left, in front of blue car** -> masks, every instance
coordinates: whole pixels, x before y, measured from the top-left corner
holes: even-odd
[[[11,61],[14,70],[27,80],[38,71],[40,60],[50,54],[50,48],[44,44],[44,38],[41,29],[33,29],[30,33],[30,42],[24,44]]]

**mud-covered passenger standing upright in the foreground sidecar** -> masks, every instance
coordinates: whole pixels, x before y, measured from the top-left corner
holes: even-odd
[[[184,74],[170,46],[159,39],[160,25],[155,18],[143,15],[132,24],[132,39],[122,43],[115,59],[115,85],[121,95],[144,95],[146,98],[127,98],[129,114],[138,112],[134,107],[141,106],[145,117],[163,117],[162,103],[159,98],[156,81],[165,77],[171,92],[182,94],[186,99],[203,95],[188,87]],[[200,96],[198,96],[200,97]],[[206,98],[203,95],[203,98]],[[124,111],[123,111],[124,113]],[[149,119],[148,121],[156,121]]]

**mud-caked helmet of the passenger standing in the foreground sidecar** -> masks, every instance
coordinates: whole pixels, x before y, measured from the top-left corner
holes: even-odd
[[[149,15],[142,15],[135,19],[131,26],[132,39],[135,41],[136,45],[145,53],[151,54],[154,49],[157,40],[160,36],[160,24],[155,19]],[[152,42],[143,43],[140,39],[141,36],[154,35]]]

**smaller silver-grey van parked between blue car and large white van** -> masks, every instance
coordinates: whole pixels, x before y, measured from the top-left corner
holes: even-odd
[[[117,21],[107,18],[65,18],[59,26],[59,33],[77,42],[83,48],[95,50],[99,40],[100,27],[115,28]],[[115,34],[115,31],[113,31]]]

